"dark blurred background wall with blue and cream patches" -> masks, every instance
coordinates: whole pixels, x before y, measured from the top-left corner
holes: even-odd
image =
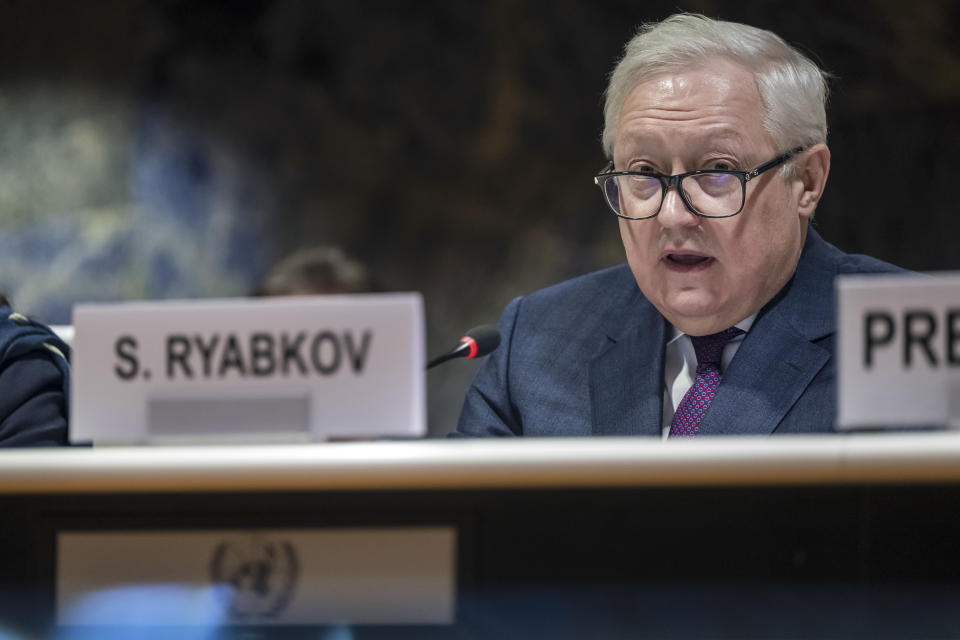
[[[828,240],[960,268],[957,2],[0,0],[0,290],[68,323],[79,301],[246,295],[337,245],[423,292],[439,353],[623,260],[591,180],[602,92],[678,9],[836,76]],[[474,368],[428,376],[432,434]]]

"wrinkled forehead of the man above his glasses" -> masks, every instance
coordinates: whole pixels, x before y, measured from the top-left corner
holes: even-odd
[[[638,82],[620,109],[614,148],[634,141],[761,145],[768,140],[763,117],[754,75],[736,63],[715,61]]]

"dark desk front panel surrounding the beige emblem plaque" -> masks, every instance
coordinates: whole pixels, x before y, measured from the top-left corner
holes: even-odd
[[[0,620],[52,633],[61,533],[439,527],[454,624],[353,637],[960,637],[958,505],[953,482],[7,494]],[[221,633],[317,633],[260,622]]]

